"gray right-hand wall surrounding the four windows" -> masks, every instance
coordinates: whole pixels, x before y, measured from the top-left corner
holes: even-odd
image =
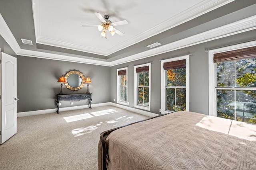
[[[161,107],[161,62],[160,60],[169,59],[186,55],[190,56],[190,111],[208,115],[208,53],[205,49],[215,49],[256,40],[256,30],[248,31],[217,39],[207,43],[194,45],[184,49],[171,51],[161,55],[148,57],[130,63],[112,66],[110,69],[110,100],[117,98],[116,69],[128,66],[128,102],[129,107],[134,107],[134,65],[151,62],[151,112],[158,113]],[[114,102],[116,103],[116,102]]]

